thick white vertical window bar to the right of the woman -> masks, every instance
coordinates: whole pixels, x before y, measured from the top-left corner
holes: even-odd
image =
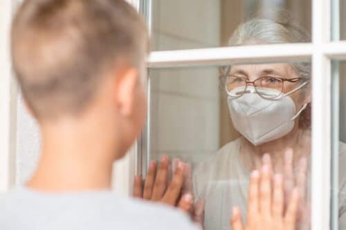
[[[323,48],[331,36],[331,1],[312,3],[311,229],[322,230],[330,220],[331,63]]]

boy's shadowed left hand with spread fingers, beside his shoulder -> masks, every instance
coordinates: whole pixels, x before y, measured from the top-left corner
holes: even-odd
[[[159,166],[157,166],[155,161],[150,162],[144,189],[142,178],[136,175],[134,180],[134,197],[163,202],[170,206],[176,206],[183,211],[190,211],[194,200],[192,194],[185,193],[181,195],[185,167],[185,164],[179,161],[170,184],[167,184],[170,173],[169,157],[163,155]]]

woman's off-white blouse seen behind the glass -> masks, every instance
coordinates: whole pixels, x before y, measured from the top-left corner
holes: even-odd
[[[205,230],[229,230],[233,206],[240,207],[246,220],[249,173],[239,159],[241,138],[226,144],[194,169],[196,201],[206,200]],[[339,146],[339,229],[346,229],[346,144],[340,142]],[[309,170],[308,198],[310,174]]]

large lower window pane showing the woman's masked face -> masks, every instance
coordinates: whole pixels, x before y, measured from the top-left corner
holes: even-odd
[[[186,176],[191,180],[184,191],[190,189],[196,203],[206,200],[206,230],[230,229],[234,206],[240,207],[246,220],[249,174],[260,169],[264,153],[271,156],[273,171],[284,174],[288,193],[300,185],[304,198],[297,229],[309,229],[310,70],[309,63],[149,70],[150,159],[169,155],[171,160],[190,164],[192,176]],[[237,86],[228,84],[230,75],[247,82],[272,79],[266,81],[270,85],[244,87],[241,81]],[[279,90],[273,87],[281,84],[277,78],[298,81],[283,81]],[[226,88],[241,94],[231,97]],[[266,95],[276,96],[268,99]],[[287,155],[288,148],[293,155]],[[268,157],[264,162],[268,164]],[[285,165],[292,174],[284,172]]]

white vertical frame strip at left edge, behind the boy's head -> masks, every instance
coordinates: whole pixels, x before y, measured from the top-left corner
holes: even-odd
[[[17,84],[10,61],[10,25],[15,0],[0,0],[0,192],[15,183]]]

